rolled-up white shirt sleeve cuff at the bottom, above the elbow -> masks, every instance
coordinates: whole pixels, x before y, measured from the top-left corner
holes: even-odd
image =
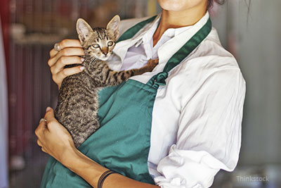
[[[236,163],[227,166],[207,151],[176,149],[171,146],[169,155],[158,166],[155,183],[162,188],[211,187],[220,169],[232,171]]]

